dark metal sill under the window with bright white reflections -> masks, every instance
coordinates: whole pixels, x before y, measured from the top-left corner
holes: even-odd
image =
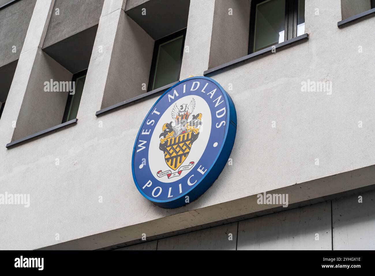
[[[276,44],[274,46],[275,46],[276,49],[279,49],[279,48],[283,48],[283,47],[286,47],[288,45],[291,45],[295,42],[303,41],[303,40],[307,40],[307,39],[309,39],[309,35],[307,33],[304,33],[303,35],[297,36],[297,37],[292,38],[292,39],[288,39],[287,41],[281,42],[281,43]],[[235,60],[229,61],[227,63],[224,63],[222,65],[216,66],[214,68],[208,69],[207,71],[204,71],[203,75],[206,76],[208,74],[212,74],[212,73],[217,72],[219,70],[222,70],[222,69],[228,68],[230,66],[233,66],[237,63],[245,62],[246,60],[253,59],[254,57],[258,57],[258,56],[261,56],[261,55],[266,54],[266,53],[271,53],[274,46],[265,48],[263,50],[255,52],[255,53],[248,54],[247,56],[243,56],[243,57],[240,57],[238,59],[235,59]]]

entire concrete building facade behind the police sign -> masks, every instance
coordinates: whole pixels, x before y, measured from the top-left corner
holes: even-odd
[[[374,250],[374,3],[303,1],[303,29],[254,51],[262,3],[0,0],[0,249]],[[164,209],[136,189],[132,152],[172,85],[147,89],[155,45],[181,30],[175,81],[220,83],[237,135],[207,192]],[[69,91],[45,82],[86,69],[62,123]]]

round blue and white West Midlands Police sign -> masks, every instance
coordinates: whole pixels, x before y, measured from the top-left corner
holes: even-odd
[[[207,77],[180,81],[156,101],[138,131],[135,186],[164,208],[192,202],[224,168],[236,128],[236,109],[220,84]]]

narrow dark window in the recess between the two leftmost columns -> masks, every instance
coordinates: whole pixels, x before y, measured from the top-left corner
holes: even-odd
[[[75,93],[73,95],[69,94],[68,96],[63,117],[63,123],[77,118],[78,108],[80,107],[83,92],[83,86],[86,80],[86,74],[87,69],[73,75],[72,81],[75,82]]]

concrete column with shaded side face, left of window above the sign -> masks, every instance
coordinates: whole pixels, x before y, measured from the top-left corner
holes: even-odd
[[[126,0],[105,0],[77,117],[142,94],[148,81],[153,39],[124,12]]]

